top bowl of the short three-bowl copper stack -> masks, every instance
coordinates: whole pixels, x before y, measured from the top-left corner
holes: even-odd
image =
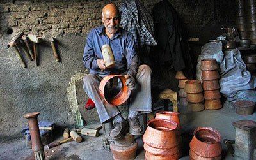
[[[203,89],[202,89],[202,84],[200,80],[188,80],[185,82],[184,92],[195,94],[195,93],[200,93],[202,91]]]

